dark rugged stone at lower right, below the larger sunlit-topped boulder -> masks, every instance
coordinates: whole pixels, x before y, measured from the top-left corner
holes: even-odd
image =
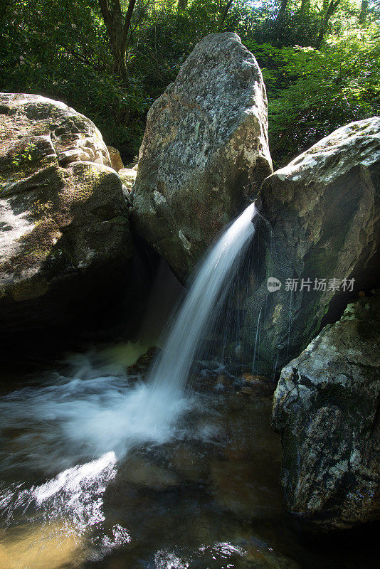
[[[379,519],[379,394],[376,295],[349,304],[281,373],[273,425],[290,511],[323,529]]]

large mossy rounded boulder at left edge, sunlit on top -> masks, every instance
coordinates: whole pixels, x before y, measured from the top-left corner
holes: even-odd
[[[38,95],[0,94],[2,336],[101,317],[132,256],[122,182],[93,122]]]

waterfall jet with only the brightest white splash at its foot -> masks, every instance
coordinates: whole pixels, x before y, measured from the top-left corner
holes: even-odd
[[[194,358],[246,255],[255,233],[255,216],[258,212],[255,203],[251,203],[201,262],[169,327],[162,352],[149,370],[147,384],[135,386],[118,400],[117,408],[111,410],[112,416],[110,410],[105,410],[87,420],[84,430],[87,441],[93,439],[93,446],[97,442],[99,448],[99,442],[102,442],[104,451],[114,450],[120,455],[136,445],[160,444],[178,434],[176,420],[192,404],[184,396],[184,390]],[[83,433],[83,419],[80,419],[80,429],[75,432]],[[110,440],[114,443],[112,448],[106,446]]]

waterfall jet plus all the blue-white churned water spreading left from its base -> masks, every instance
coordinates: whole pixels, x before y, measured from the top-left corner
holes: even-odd
[[[3,426],[21,430],[19,452],[13,451],[10,467],[30,462],[44,469],[48,456],[49,467],[57,472],[108,452],[120,459],[134,447],[162,445],[183,436],[186,425],[178,419],[190,409],[196,412],[199,404],[185,394],[186,383],[201,343],[231,292],[255,233],[255,216],[252,203],[206,254],[147,382],[129,379],[124,368],[108,368],[85,353],[68,358],[63,375],[48,375],[38,388],[27,386],[0,398]],[[6,464],[9,452],[2,442],[0,437],[0,462]]]

